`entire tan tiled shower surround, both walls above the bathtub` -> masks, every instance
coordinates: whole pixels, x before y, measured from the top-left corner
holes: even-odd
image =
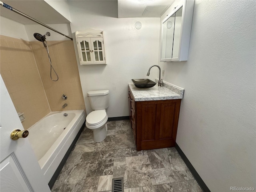
[[[24,112],[24,129],[50,111],[85,109],[73,42],[48,41],[59,80],[50,80],[50,64],[42,42],[0,35],[0,73],[17,112]],[[56,76],[52,72],[55,79]],[[62,94],[68,96],[62,100]]]

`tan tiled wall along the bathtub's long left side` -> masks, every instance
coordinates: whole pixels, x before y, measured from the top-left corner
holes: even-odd
[[[44,87],[28,41],[0,35],[0,72],[24,129],[50,112]]]

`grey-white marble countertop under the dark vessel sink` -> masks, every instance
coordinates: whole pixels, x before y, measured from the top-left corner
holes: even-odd
[[[184,93],[184,88],[168,82],[164,82],[161,87],[156,84],[151,88],[137,88],[133,83],[129,83],[128,86],[132,91],[135,101],[182,99]]]

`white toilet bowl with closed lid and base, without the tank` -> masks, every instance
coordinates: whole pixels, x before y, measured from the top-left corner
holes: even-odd
[[[86,117],[86,127],[93,130],[93,140],[95,142],[102,142],[106,138],[108,132],[107,121],[108,115],[105,109],[90,112]]]

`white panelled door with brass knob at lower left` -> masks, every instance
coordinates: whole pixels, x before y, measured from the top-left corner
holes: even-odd
[[[28,138],[10,139],[14,129],[23,126],[0,76],[0,191],[50,192]]]

